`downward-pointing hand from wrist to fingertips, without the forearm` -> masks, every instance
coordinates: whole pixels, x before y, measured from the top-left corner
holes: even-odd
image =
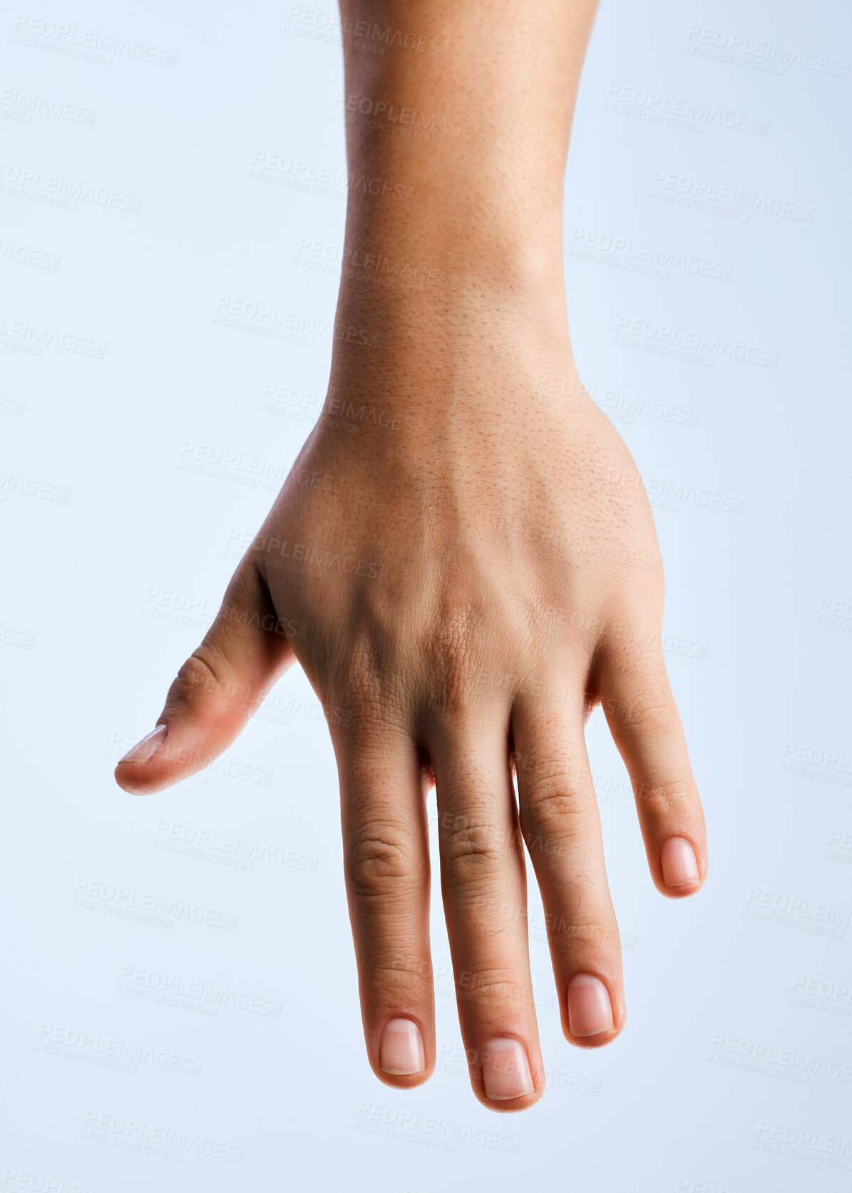
[[[523,1109],[544,1088],[524,842],[566,1038],[607,1044],[625,1022],[584,742],[597,703],[657,889],[691,895],[706,873],[660,643],[656,538],[636,466],[576,376],[558,286],[424,304],[397,295],[375,299],[369,319],[378,347],[338,359],[325,413],[216,623],[116,777],[149,793],[206,766],[298,660],[337,710],[370,1064],[407,1088],[436,1063],[434,783],[470,1080],[492,1109]]]

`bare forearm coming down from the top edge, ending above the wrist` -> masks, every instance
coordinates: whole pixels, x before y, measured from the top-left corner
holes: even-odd
[[[538,254],[561,256],[568,135],[595,4],[341,0],[350,29],[390,31],[376,42],[383,54],[345,39],[347,243],[419,247],[446,262],[473,253],[502,278],[541,265]],[[427,48],[407,48],[397,31]]]

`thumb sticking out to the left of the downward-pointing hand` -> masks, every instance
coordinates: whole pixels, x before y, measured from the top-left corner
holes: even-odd
[[[268,588],[243,561],[216,620],[169,687],[156,727],[116,767],[118,786],[147,796],[202,771],[239,736],[294,659]]]

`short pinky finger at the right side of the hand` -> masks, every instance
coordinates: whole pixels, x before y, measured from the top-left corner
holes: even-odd
[[[607,651],[599,693],[630,774],[654,884],[671,898],[694,895],[708,872],[704,812],[661,651]]]

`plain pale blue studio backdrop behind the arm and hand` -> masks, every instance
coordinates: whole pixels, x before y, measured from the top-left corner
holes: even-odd
[[[623,1036],[563,1040],[533,886],[548,1092],[488,1113],[436,890],[438,1071],[376,1081],[298,669],[208,772],[147,799],[113,784],[325,395],[346,165],[319,2],[47,0],[0,21],[0,1189],[846,1189],[840,0],[603,0],[582,78],[572,332],[654,505],[711,859],[694,900],[655,892],[595,713]]]

